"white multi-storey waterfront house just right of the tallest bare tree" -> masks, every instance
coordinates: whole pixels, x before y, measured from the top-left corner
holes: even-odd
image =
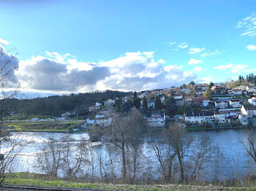
[[[164,111],[148,111],[146,118],[148,120],[148,125],[152,128],[165,126]]]

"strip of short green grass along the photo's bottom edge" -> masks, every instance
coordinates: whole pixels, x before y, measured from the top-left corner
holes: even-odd
[[[96,190],[139,190],[139,191],[165,191],[165,190],[227,190],[227,191],[242,191],[242,190],[256,190],[256,187],[218,187],[211,184],[205,186],[186,185],[186,184],[149,184],[149,185],[135,185],[135,184],[100,184],[100,183],[78,183],[68,182],[63,180],[47,181],[39,179],[17,179],[7,178],[5,184],[42,186],[42,187],[68,187],[80,189],[96,189]]]

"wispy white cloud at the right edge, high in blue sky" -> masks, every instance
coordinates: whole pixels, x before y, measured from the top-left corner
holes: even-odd
[[[243,30],[241,36],[255,36],[256,35],[256,13],[253,12],[248,17],[244,17],[238,21],[236,28]]]

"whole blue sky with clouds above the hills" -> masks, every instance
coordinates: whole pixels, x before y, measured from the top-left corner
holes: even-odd
[[[0,46],[37,94],[139,91],[256,73],[256,1],[2,0]],[[0,59],[1,62],[1,59]]]

